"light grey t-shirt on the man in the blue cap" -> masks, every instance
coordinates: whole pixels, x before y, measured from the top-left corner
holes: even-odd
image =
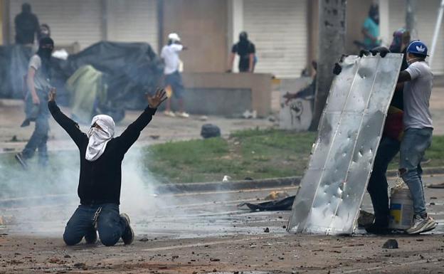
[[[404,85],[404,129],[432,127],[430,115],[430,94],[433,86],[433,73],[425,61],[415,62],[406,69],[411,81]],[[433,128],[433,127],[432,127]]]

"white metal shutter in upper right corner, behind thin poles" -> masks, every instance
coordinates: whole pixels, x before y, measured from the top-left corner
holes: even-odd
[[[388,22],[390,31],[393,33],[396,29],[406,26],[405,0],[390,0],[388,5],[390,17]],[[416,14],[417,38],[424,41],[429,50],[432,46],[433,31],[435,31],[439,6],[440,0],[418,1]],[[391,43],[391,41],[388,43]],[[432,70],[434,74],[444,74],[444,26],[441,26],[438,43],[436,43]]]

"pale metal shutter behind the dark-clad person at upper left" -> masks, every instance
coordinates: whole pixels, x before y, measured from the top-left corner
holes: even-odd
[[[14,41],[14,18],[21,12],[21,5],[29,3],[39,23],[47,23],[56,45],[74,42],[86,48],[102,36],[100,0],[14,0],[10,1],[11,41]]]

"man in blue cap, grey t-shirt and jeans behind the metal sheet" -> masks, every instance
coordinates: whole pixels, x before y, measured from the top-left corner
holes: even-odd
[[[413,198],[413,224],[406,230],[409,234],[430,231],[437,223],[425,210],[421,159],[432,142],[432,115],[429,102],[433,85],[433,73],[425,62],[427,46],[413,41],[407,47],[408,68],[401,71],[398,83],[404,83],[403,127],[400,147],[399,173],[410,189]]]

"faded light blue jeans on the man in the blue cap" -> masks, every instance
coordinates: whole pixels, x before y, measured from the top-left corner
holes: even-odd
[[[401,177],[410,189],[413,198],[413,211],[421,216],[425,216],[427,213],[420,163],[425,149],[428,149],[432,144],[432,132],[433,129],[430,127],[407,129],[404,132],[400,149],[399,170]]]

